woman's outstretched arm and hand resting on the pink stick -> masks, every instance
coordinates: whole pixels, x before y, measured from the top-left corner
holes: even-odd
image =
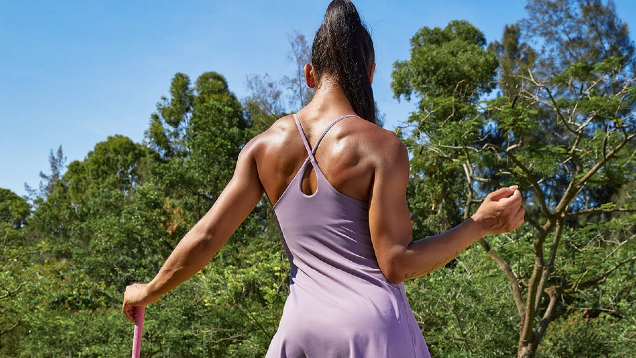
[[[135,283],[126,287],[122,310],[129,320],[135,319],[134,306],[155,303],[204,268],[254,210],[263,196],[254,141],[241,151],[232,180],[212,208],[179,241],[155,278],[148,285]]]

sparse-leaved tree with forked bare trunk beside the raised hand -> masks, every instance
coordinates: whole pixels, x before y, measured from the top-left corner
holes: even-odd
[[[534,1],[530,5],[539,3],[553,15],[567,13],[558,7],[565,2]],[[594,1],[577,4],[600,9]],[[534,9],[530,5],[529,9]],[[611,6],[604,9],[604,21],[617,24]],[[530,13],[532,18],[534,12]],[[502,96],[486,107],[477,101],[487,85],[470,91],[458,89],[479,83],[475,78],[494,75],[494,69],[480,68],[480,62],[467,62],[467,57],[436,48],[429,48],[428,57],[418,53],[418,36],[443,33],[439,29],[418,32],[410,61],[394,67],[392,88],[396,96],[420,99],[418,111],[405,126],[411,129],[408,143],[416,164],[413,186],[420,185],[420,192],[436,197],[439,184],[431,187],[427,180],[434,183],[440,173],[448,178],[449,173],[463,172],[464,179],[459,182],[463,188],[455,190],[453,196],[462,194],[464,207],[459,211],[466,218],[484,192],[512,183],[521,185],[529,223],[526,230],[532,237],[515,243],[487,238],[480,244],[508,278],[518,315],[518,357],[534,357],[550,322],[567,315],[563,303],[580,304],[589,299],[586,295],[590,291],[602,292],[614,275],[623,269],[630,272],[636,259],[631,224],[636,204],[631,194],[636,164],[632,155],[635,79],[626,61],[632,52],[620,57],[595,55],[596,48],[591,46],[597,43],[591,40],[583,41],[590,47],[576,48],[581,55],[594,54],[584,57],[589,60],[586,62],[581,61],[583,57],[571,57],[576,62],[560,67],[548,61],[549,52],[544,52],[536,66],[528,61],[532,56],[518,55],[512,57],[522,61],[511,66],[506,62],[509,55],[526,46],[518,44],[520,36],[515,32],[516,27],[508,27],[504,45],[494,45],[494,49],[499,48],[499,62],[508,68],[500,72]],[[550,38],[543,40],[546,48],[560,45]],[[470,47],[465,48],[469,52]],[[433,54],[437,59],[429,59]],[[457,78],[445,76],[458,66],[453,57],[464,59],[466,68],[483,73],[459,71]],[[479,57],[471,58],[475,61]],[[436,69],[438,64],[443,69]],[[576,92],[570,90],[573,82],[579,89]],[[520,101],[509,97],[513,95]],[[432,173],[420,171],[418,158],[422,156],[439,163]],[[420,184],[420,178],[425,185]],[[457,184],[448,183],[452,185]],[[415,201],[426,203],[426,199]],[[415,206],[415,218],[421,215],[417,210]],[[618,292],[619,301],[630,298],[624,291]],[[616,311],[626,320],[628,312],[620,306],[612,303],[611,307],[597,308]]]

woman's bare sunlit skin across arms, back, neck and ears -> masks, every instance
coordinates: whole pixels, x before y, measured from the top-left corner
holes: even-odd
[[[370,66],[373,80],[375,64]],[[343,115],[355,114],[335,78],[314,78],[305,65],[307,85],[315,96],[298,111],[310,145],[326,127]],[[188,280],[212,259],[230,235],[259,203],[263,193],[275,204],[287,188],[307,152],[293,117],[282,117],[253,138],[237,159],[232,180],[212,208],[184,236],[162,269],[147,285],[126,288],[123,312],[134,321],[134,306],[155,303]],[[382,273],[391,283],[427,275],[446,264],[471,243],[487,234],[513,231],[525,211],[516,187],[490,193],[474,215],[457,227],[413,241],[406,202],[409,160],[397,136],[362,118],[346,118],[333,127],[315,154],[316,161],[336,190],[368,201],[371,242]],[[303,192],[315,192],[317,182],[308,170]]]

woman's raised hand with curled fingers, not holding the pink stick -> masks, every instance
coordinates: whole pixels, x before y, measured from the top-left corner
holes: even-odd
[[[516,185],[502,188],[488,194],[471,218],[483,229],[483,236],[509,233],[523,224],[522,201]]]

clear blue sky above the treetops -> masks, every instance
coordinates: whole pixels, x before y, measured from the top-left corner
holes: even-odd
[[[414,109],[392,98],[389,83],[418,29],[467,20],[490,42],[525,16],[523,0],[354,3],[375,42],[373,90],[388,129]],[[614,3],[634,38],[636,2]],[[289,36],[313,38],[328,4],[0,0],[0,188],[22,196],[24,183],[38,187],[60,145],[69,163],[113,134],[141,142],[177,72],[195,80],[217,71],[239,99],[249,95],[248,75],[291,75]]]

